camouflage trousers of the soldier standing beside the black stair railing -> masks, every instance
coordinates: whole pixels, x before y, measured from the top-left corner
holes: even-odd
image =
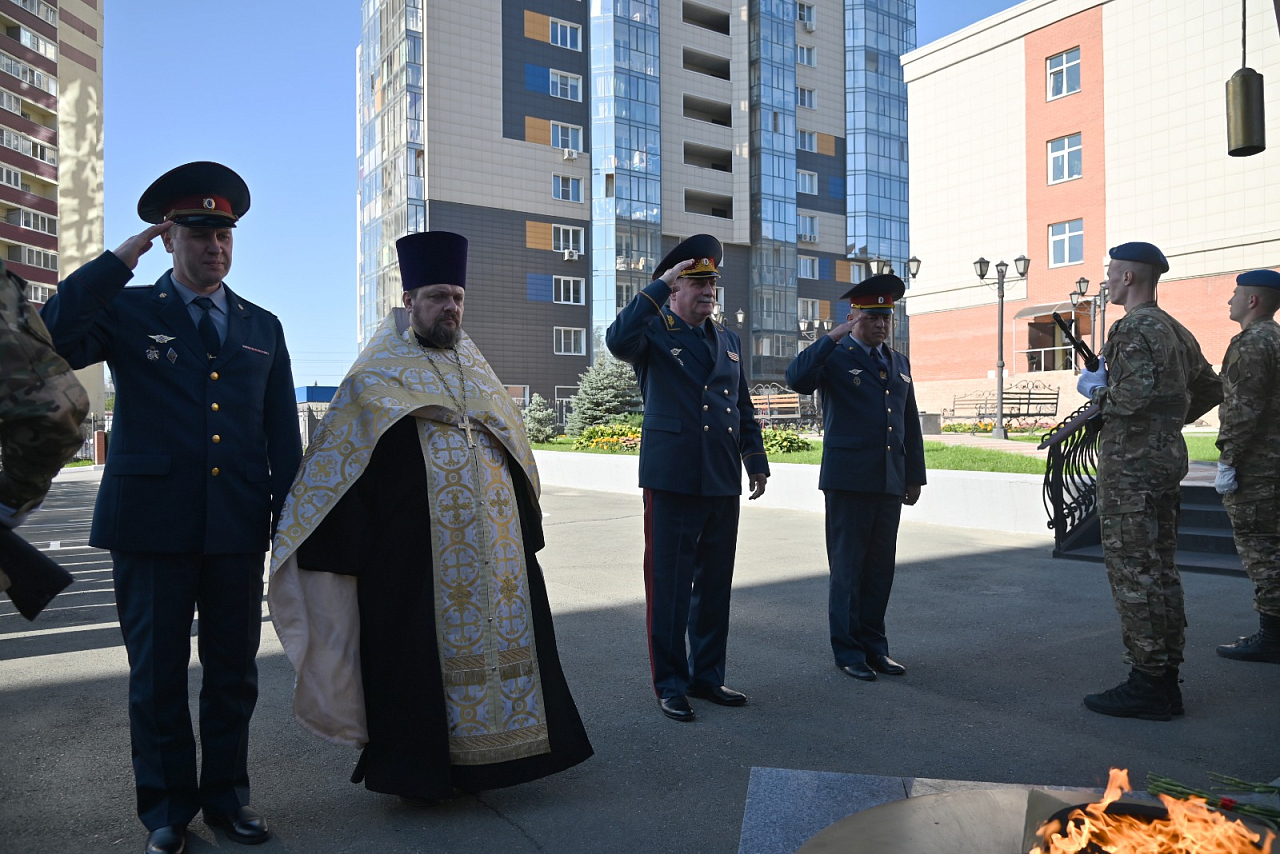
[[[1101,485],[1101,484],[1100,484]],[[1179,489],[1100,489],[1102,553],[1126,663],[1151,676],[1183,662],[1187,612],[1178,549]]]

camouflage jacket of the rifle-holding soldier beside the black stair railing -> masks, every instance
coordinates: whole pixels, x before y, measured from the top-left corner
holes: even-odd
[[[1221,380],[1192,333],[1155,302],[1116,320],[1102,355],[1107,384],[1093,392],[1106,417],[1100,489],[1175,488],[1187,475],[1183,425],[1221,402]]]

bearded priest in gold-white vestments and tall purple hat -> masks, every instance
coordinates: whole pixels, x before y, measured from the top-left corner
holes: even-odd
[[[417,803],[570,768],[591,745],[556,650],[538,469],[462,332],[467,241],[396,243],[403,309],[347,373],[274,548],[293,712],[361,748],[352,782]]]

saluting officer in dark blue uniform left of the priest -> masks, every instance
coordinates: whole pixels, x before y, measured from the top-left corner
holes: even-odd
[[[179,854],[197,812],[261,842],[248,807],[262,570],[302,442],[275,315],[233,293],[236,222],[248,187],[215,163],[160,177],[138,214],[155,223],[67,278],[44,310],[73,367],[105,361],[115,421],[90,544],[111,551],[129,654],[129,730],[148,854]],[[161,237],[173,269],[125,288]],[[201,769],[187,703],[200,612]]]

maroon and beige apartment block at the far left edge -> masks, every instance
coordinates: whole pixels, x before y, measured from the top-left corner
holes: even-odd
[[[102,251],[101,1],[0,0],[0,257],[36,303]]]

